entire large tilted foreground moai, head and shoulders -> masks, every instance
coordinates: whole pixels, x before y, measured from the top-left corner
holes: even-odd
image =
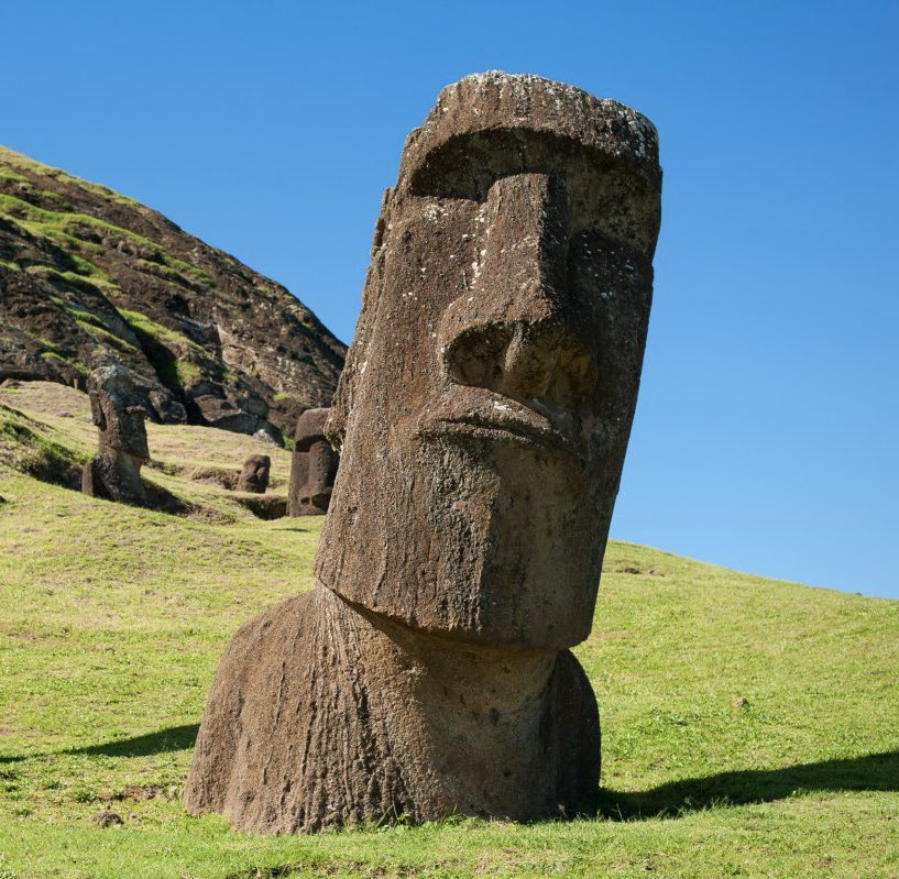
[[[637,396],[653,125],[534,76],[446,88],[384,196],[327,425],[317,583],[244,625],[185,793],[266,832],[517,820],[597,789],[590,631]]]

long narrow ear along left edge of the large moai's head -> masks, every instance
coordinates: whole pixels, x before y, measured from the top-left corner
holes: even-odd
[[[386,238],[390,234],[387,218],[393,191],[392,188],[385,189],[381,201],[381,215],[377,218],[372,241],[372,261],[365,276],[365,286],[362,289],[362,311],[359,315],[353,341],[347,352],[347,362],[343,365],[343,372],[340,373],[337,392],[331,402],[331,410],[325,424],[325,437],[331,443],[331,448],[338,452],[343,451],[343,440],[347,436],[347,425],[353,409],[353,400],[368,365],[369,329],[374,318],[381,289],[384,286],[384,251]]]

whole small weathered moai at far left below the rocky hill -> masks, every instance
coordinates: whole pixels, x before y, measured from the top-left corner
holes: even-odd
[[[141,468],[150,460],[150,449],[141,391],[120,364],[94,370],[87,388],[100,448],[85,466],[81,491],[91,497],[145,506]]]

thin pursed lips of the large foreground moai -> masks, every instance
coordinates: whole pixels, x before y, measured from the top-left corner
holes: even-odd
[[[419,421],[423,437],[460,436],[514,442],[528,448],[545,449],[583,468],[588,455],[574,438],[559,430],[536,409],[518,400],[490,391],[460,388],[449,394],[440,405],[430,408]]]

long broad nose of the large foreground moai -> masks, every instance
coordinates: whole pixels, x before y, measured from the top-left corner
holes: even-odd
[[[440,325],[451,381],[569,411],[591,393],[594,359],[567,283],[569,212],[558,177],[518,174],[491,187],[468,292]]]

